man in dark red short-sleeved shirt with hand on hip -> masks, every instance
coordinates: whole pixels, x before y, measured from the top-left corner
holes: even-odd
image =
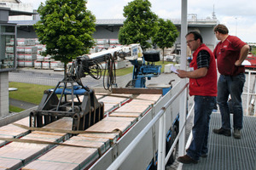
[[[230,36],[228,28],[224,25],[215,26],[214,33],[220,40],[213,54],[217,59],[220,73],[217,103],[221,113],[222,126],[219,129],[213,129],[213,133],[231,136],[230,111],[227,103],[231,96],[233,136],[235,139],[241,139],[240,130],[243,116],[241,94],[245,82],[245,67],[241,63],[247,58],[249,46],[238,37]]]

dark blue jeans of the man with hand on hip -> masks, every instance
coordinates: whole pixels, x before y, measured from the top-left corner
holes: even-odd
[[[228,106],[229,95],[231,96],[231,106],[233,111],[234,128],[242,128],[242,105],[241,94],[245,83],[245,74],[230,77],[220,75],[218,78],[218,96],[217,103],[221,114],[222,128],[231,129],[230,110]]]

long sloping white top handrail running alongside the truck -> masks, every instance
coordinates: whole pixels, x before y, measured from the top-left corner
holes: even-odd
[[[177,99],[177,96],[180,95],[185,88],[187,88],[189,83],[185,84],[184,87],[174,96],[172,96],[172,99],[170,99],[166,105],[164,105],[160,111],[154,116],[154,118],[148,123],[148,125],[143,128],[143,130],[138,133],[137,137],[131,141],[131,143],[125,148],[125,150],[116,158],[116,160],[113,161],[113,163],[108,167],[107,170],[115,170],[118,169],[119,166],[125,161],[127,156],[131,154],[131,151],[135,149],[137,144],[143,139],[144,135],[148,133],[148,130],[150,130],[154,124],[160,119],[161,116],[166,111],[166,108],[169,107],[169,105],[172,104],[172,102]]]

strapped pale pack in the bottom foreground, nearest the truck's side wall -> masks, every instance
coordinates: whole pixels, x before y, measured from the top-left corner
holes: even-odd
[[[22,169],[82,169],[83,167],[88,167],[101,156],[99,150],[103,153],[110,147],[108,139],[84,136],[73,136],[65,141],[64,144],[84,147],[59,145]]]

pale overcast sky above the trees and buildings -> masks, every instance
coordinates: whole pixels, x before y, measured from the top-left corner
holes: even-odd
[[[20,0],[32,3],[37,9],[46,0]],[[86,7],[96,19],[120,19],[123,8],[131,0],[87,0]],[[151,10],[163,19],[181,19],[182,0],[149,0]],[[197,14],[198,19],[212,17],[214,12],[221,24],[226,25],[230,35],[245,42],[256,42],[256,1],[242,0],[188,0],[188,14]]]

